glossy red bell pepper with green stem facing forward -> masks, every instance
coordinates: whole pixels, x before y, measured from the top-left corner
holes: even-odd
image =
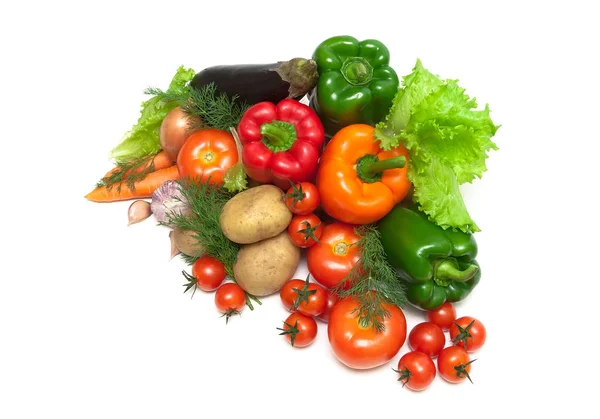
[[[325,131],[308,106],[284,99],[248,108],[238,124],[242,162],[248,176],[286,190],[291,182],[312,181]]]

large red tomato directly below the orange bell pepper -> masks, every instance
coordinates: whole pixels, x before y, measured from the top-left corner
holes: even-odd
[[[350,224],[326,225],[319,243],[306,252],[308,271],[315,281],[325,288],[339,284],[360,260],[358,247],[354,246],[359,240]]]

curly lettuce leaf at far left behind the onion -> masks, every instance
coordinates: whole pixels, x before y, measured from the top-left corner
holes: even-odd
[[[186,70],[183,66],[179,67],[167,92],[183,93],[195,74],[191,68]],[[160,124],[179,105],[177,102],[163,102],[157,96],[143,102],[137,123],[131,131],[125,133],[121,143],[111,151],[110,157],[120,163],[158,153],[161,150]]]

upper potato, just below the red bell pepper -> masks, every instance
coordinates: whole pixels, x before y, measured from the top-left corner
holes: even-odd
[[[283,202],[283,191],[274,185],[260,185],[231,198],[220,216],[221,230],[229,240],[256,243],[284,231],[292,213]]]

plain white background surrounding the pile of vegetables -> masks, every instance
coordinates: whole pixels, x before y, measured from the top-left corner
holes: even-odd
[[[598,364],[599,76],[593,2],[29,2],[0,11],[0,417],[593,416]],[[444,5],[447,3],[446,5]],[[472,378],[401,388],[277,335],[277,295],[225,326],[129,203],[83,196],[176,68],[384,42],[489,103],[500,147],[466,185],[483,278],[459,315],[488,341]],[[303,272],[299,272],[303,276]],[[409,328],[423,317],[406,310]],[[520,406],[520,407],[517,407]],[[586,413],[587,412],[587,413]]]

